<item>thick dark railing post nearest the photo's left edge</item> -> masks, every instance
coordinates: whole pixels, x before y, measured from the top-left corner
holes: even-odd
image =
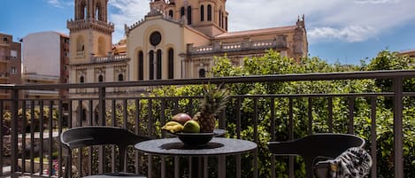
[[[17,177],[16,172],[18,171],[18,142],[19,142],[19,89],[12,89],[12,178]]]

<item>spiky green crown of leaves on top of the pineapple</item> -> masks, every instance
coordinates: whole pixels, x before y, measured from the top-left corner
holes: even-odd
[[[222,112],[227,107],[229,93],[227,89],[220,89],[211,84],[204,85],[204,100],[202,101],[201,111],[210,114]]]

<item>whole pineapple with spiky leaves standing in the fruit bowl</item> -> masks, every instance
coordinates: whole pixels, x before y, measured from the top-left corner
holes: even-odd
[[[219,86],[220,88],[220,86]],[[211,84],[204,86],[204,99],[200,106],[200,112],[196,112],[193,120],[200,125],[200,132],[213,132],[216,125],[216,114],[227,107],[227,90],[219,89]]]

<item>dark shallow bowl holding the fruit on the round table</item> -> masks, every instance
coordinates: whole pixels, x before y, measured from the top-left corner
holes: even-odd
[[[177,136],[182,143],[186,145],[203,145],[206,143],[209,143],[211,141],[211,138],[213,136],[220,136],[225,135],[227,131],[224,129],[218,129],[215,128],[213,132],[210,133],[184,133],[184,132],[178,132],[178,133],[169,133],[170,135]]]

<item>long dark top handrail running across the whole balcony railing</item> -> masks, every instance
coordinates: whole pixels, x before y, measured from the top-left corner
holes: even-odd
[[[388,70],[388,71],[359,71],[344,73],[311,73],[311,74],[269,74],[250,76],[215,77],[203,79],[170,79],[149,81],[117,81],[117,82],[90,82],[65,84],[35,84],[15,85],[0,84],[0,89],[86,89],[112,87],[152,87],[160,85],[184,85],[205,83],[240,83],[240,82],[278,82],[278,81],[333,81],[333,80],[364,80],[364,79],[393,79],[414,77],[415,70]]]

